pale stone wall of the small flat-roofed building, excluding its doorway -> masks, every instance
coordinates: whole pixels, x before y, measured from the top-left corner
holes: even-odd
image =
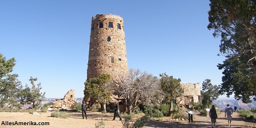
[[[200,92],[200,84],[197,82],[196,84],[188,83],[188,84],[180,84],[184,89],[184,97],[193,97],[193,102],[201,102],[201,92]],[[182,98],[180,104],[184,105],[184,97]]]

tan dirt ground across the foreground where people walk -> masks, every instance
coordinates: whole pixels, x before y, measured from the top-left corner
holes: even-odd
[[[100,119],[104,119],[106,128],[121,128],[122,122],[118,121],[116,118],[115,121],[113,119],[113,113],[97,113],[97,112],[88,112],[88,119],[82,119],[81,113],[69,113],[71,118],[53,118],[51,117],[51,113],[41,113],[39,115],[32,115],[29,113],[8,113],[2,112],[0,113],[0,127],[95,127],[96,123],[100,121]],[[144,128],[151,127],[184,127],[184,128],[196,128],[196,127],[211,127],[210,126],[210,118],[203,117],[200,115],[195,115],[195,119],[192,123],[188,121],[167,121],[168,117],[164,117],[166,121],[148,121]],[[6,122],[28,122],[28,123],[39,123],[39,122],[49,122],[49,125],[39,126],[39,125],[6,125]],[[3,125],[5,123],[5,125]],[[232,127],[246,127],[246,122],[243,121],[243,118],[240,117],[237,113],[233,115]],[[250,125],[255,125],[256,123],[250,123]],[[228,121],[224,117],[224,113],[218,114],[217,119],[217,127],[228,127]]]

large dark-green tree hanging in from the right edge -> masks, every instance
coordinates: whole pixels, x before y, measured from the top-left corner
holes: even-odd
[[[208,29],[221,36],[220,52],[226,57],[220,93],[237,100],[256,100],[256,6],[253,0],[210,0]]]

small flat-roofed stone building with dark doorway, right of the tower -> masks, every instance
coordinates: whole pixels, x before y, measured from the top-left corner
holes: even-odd
[[[199,82],[196,84],[188,83],[180,85],[184,89],[184,94],[183,98],[181,98],[180,105],[185,105],[186,107],[191,108],[191,106],[193,106],[193,102],[201,102]]]

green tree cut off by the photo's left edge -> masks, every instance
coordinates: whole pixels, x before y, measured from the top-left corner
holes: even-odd
[[[10,73],[15,66],[15,59],[6,60],[0,53],[0,107],[20,108],[19,93],[22,85],[17,79],[18,75]]]

